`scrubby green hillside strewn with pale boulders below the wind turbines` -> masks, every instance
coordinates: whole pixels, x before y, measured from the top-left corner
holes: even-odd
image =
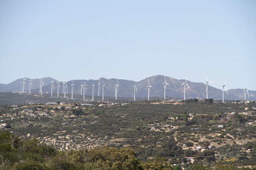
[[[2,165],[187,170],[256,165],[255,102],[159,102],[1,105]],[[36,147],[23,146],[29,144]]]

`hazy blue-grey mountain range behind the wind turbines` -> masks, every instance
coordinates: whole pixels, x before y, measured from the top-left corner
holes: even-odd
[[[165,82],[164,77],[162,75],[151,76],[148,77],[150,81],[151,93],[150,97],[160,97],[163,99],[164,95],[164,85]],[[137,82],[137,91],[136,98],[146,98],[148,97],[148,79],[145,78]],[[25,80],[25,89],[24,91],[29,91],[29,78]],[[31,92],[39,93],[39,83],[41,79],[32,79],[32,89]],[[94,80],[95,90],[94,96],[98,95],[98,82],[100,82],[100,86],[103,85],[103,80],[105,82],[104,88],[104,96],[115,96],[115,87],[116,79],[105,79],[100,78],[98,80]],[[43,93],[51,92],[51,85],[50,82],[52,81],[51,77],[43,78],[44,86],[43,86]],[[74,82],[74,94],[81,94],[81,81],[86,83],[86,95],[92,95],[92,85],[93,80],[73,80]],[[68,94],[71,94],[71,84],[73,84],[72,80],[67,81],[67,88]],[[181,98],[184,97],[184,86],[180,86],[185,82],[185,79],[174,79],[172,77],[166,77],[166,82],[170,85],[166,86],[166,97],[175,97]],[[202,82],[190,82],[187,80],[187,84],[189,85],[191,91],[188,87],[186,87],[186,99],[204,99],[206,98],[206,83]],[[118,97],[134,97],[134,88],[135,81],[132,80],[125,80],[125,79],[118,79]],[[214,88],[210,86],[211,83],[208,85],[208,98],[212,99],[222,99],[222,88]],[[228,85],[227,85],[228,86]],[[61,90],[59,91],[62,94],[62,83],[61,83]],[[22,92],[23,91],[23,78],[17,79],[14,82],[11,82],[7,85],[0,84],[0,92]],[[244,99],[244,90],[243,89],[230,89],[227,91],[228,95],[224,93],[224,99],[227,100],[243,100]],[[248,90],[250,98],[248,94],[246,94],[247,100],[256,100],[256,91]],[[54,79],[54,93],[57,93],[57,80]],[[100,91],[100,96],[102,96],[102,87]],[[168,98],[167,98],[168,99]]]

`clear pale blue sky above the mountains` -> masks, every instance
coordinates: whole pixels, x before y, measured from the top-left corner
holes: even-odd
[[[3,84],[205,72],[256,91],[256,0],[1,0],[0,63]]]

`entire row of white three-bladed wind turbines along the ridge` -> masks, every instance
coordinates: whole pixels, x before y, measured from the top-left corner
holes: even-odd
[[[206,74],[204,74],[207,81],[206,81],[206,99],[208,99],[208,84],[209,83],[212,83],[210,81],[208,81],[208,78],[206,76]],[[166,82],[166,77],[164,77],[164,82],[163,82],[163,85],[164,85],[164,99],[166,99],[166,86],[167,85],[170,85],[169,83]],[[24,92],[24,88],[25,88],[25,80],[26,80],[26,77],[23,77],[23,92]],[[43,79],[40,79],[39,80],[39,83],[40,83],[40,88],[39,88],[39,92],[41,93],[41,95],[43,94],[42,92],[42,87],[44,85],[44,82],[43,82]],[[61,91],[61,85],[60,85],[60,81],[57,81],[57,96],[59,96],[59,90]],[[52,79],[52,81],[50,82],[51,84],[51,96],[52,96],[52,91],[54,90],[54,79]],[[180,86],[184,85],[184,100],[186,99],[186,86],[189,88],[189,90],[191,91],[189,85],[187,84],[187,76],[186,76],[186,80],[185,82],[183,82]],[[84,95],[86,94],[86,83],[84,81],[84,84],[83,84],[83,81],[81,80],[81,95],[83,93],[83,99],[84,99]],[[93,94],[92,94],[92,101],[94,100],[94,89],[95,89],[95,84],[94,84],[94,80],[93,80],[93,85],[92,86],[92,91],[93,91]],[[102,87],[102,100],[104,100],[104,87],[105,87],[105,82],[103,80],[103,85],[101,85],[101,81],[98,82],[98,96],[99,96],[99,92],[101,91],[101,87]],[[153,87],[150,85],[150,82],[149,82],[149,79],[148,79],[148,100],[149,100],[149,96],[150,96],[150,88]],[[222,90],[222,102],[224,103],[224,89],[227,93],[227,88],[226,88],[226,78],[225,78],[225,81],[224,81],[224,85],[221,86],[223,88]],[[29,94],[31,94],[31,88],[32,88],[32,79],[29,80]],[[118,94],[118,88],[119,88],[119,85],[118,85],[118,81],[116,79],[116,84],[114,84],[114,88],[115,88],[115,98],[117,100],[117,94]],[[136,94],[138,95],[138,91],[137,91],[137,82],[135,82],[135,85],[133,86],[134,88],[134,101],[136,101]],[[64,94],[64,98],[66,98],[66,89],[67,89],[67,92],[68,92],[68,88],[67,88],[67,81],[66,82],[62,82],[62,93]],[[74,92],[74,82],[72,80],[72,84],[71,84],[71,99],[73,99],[73,92]],[[246,84],[246,88],[244,88],[244,101],[246,101],[246,92],[250,98],[250,95],[249,95],[249,92],[248,92],[248,89],[247,89],[247,84]],[[227,93],[228,95],[228,93]]]

